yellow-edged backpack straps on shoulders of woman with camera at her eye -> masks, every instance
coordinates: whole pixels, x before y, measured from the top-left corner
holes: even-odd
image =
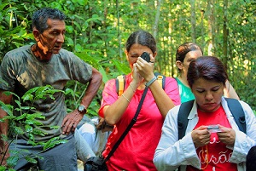
[[[160,73],[154,73],[154,76],[157,77],[157,81],[160,84],[160,86],[165,89],[166,85],[166,77],[163,75],[160,75]],[[115,79],[115,86],[116,86],[116,93],[122,95],[125,90],[125,75],[120,75],[116,77]]]

